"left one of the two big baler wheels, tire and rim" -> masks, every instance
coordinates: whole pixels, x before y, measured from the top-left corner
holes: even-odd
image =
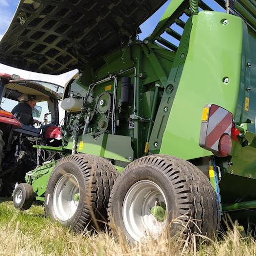
[[[100,229],[107,220],[117,174],[114,165],[101,157],[75,154],[62,158],[48,180],[45,215],[76,232]]]

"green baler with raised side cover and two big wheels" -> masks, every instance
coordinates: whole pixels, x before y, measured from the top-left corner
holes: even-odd
[[[16,208],[35,197],[53,221],[110,220],[131,241],[168,223],[211,236],[225,213],[255,226],[255,1],[172,0],[139,39],[165,2],[20,1],[0,62],[79,74],[63,93],[61,147],[36,146],[62,158],[18,185]]]

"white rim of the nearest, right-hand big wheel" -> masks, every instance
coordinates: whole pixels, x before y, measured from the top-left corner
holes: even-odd
[[[165,217],[159,221],[153,207],[165,207]],[[145,237],[156,238],[166,227],[168,212],[165,195],[153,181],[141,180],[133,184],[123,202],[123,222],[130,236],[139,241]]]

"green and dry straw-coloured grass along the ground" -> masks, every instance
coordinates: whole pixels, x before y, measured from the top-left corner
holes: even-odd
[[[17,211],[12,199],[0,199],[0,255],[256,255],[256,244],[246,238],[243,228],[234,225],[221,239],[200,238],[190,242],[167,239],[127,245],[122,233],[75,234],[44,217],[44,208],[33,205]]]

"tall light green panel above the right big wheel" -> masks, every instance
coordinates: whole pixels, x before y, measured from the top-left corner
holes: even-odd
[[[242,19],[236,16],[211,11],[193,16],[189,50],[160,154],[183,159],[211,154],[198,143],[203,106],[214,103],[231,113],[236,111],[242,31]],[[225,77],[228,83],[223,82]]]

